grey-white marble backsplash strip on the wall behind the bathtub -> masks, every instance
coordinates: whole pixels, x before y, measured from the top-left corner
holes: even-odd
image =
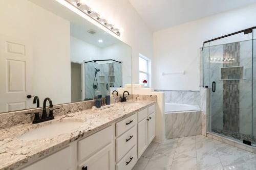
[[[199,105],[199,91],[191,90],[155,90],[164,92],[165,103],[181,103],[189,105]]]

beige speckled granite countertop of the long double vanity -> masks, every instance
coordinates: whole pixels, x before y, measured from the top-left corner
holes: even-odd
[[[105,127],[108,127],[121,119],[128,117],[155,101],[141,100],[115,103],[114,107],[103,110],[82,110],[79,112],[58,116],[54,120],[40,124],[17,125],[0,130],[0,170],[15,169],[31,163],[38,158],[53,153],[65,145],[89,136]],[[62,121],[83,122],[72,133],[63,133],[58,136],[44,139],[25,141],[19,136],[46,124]]]

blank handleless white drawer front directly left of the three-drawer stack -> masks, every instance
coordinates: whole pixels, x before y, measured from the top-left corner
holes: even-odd
[[[78,141],[78,160],[96,153],[114,139],[114,126],[105,128],[85,139]]]

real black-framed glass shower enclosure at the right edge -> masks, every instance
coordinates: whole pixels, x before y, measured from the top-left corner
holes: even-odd
[[[200,87],[209,87],[209,131],[256,144],[256,28],[205,41]]]

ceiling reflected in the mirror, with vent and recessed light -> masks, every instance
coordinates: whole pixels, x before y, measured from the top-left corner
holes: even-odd
[[[80,40],[86,41],[90,44],[96,45],[98,47],[106,47],[118,42],[121,42],[114,36],[106,33],[104,30],[95,26],[90,21],[87,21],[83,17],[79,16],[75,12],[66,8],[65,6],[59,4],[57,1],[52,0],[30,0],[36,5],[66,19],[70,22],[70,35],[76,37]],[[94,30],[96,34],[88,33],[89,30]],[[103,42],[99,42],[99,40]]]

